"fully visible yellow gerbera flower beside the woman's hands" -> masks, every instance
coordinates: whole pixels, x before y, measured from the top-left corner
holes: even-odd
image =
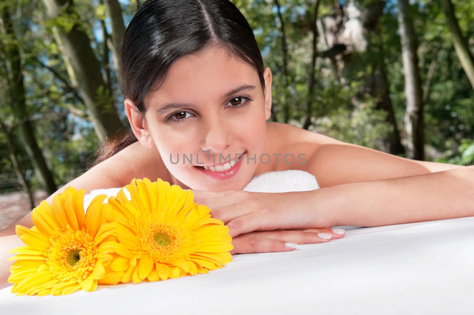
[[[123,192],[109,198],[109,221],[117,224],[120,255],[110,268],[123,271],[121,281],[137,283],[207,273],[232,260],[234,247],[229,229],[211,218],[210,209],[193,202],[191,190],[183,190],[158,178],[133,179]]]

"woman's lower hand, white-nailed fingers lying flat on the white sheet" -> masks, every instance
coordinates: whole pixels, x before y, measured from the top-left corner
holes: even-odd
[[[232,239],[230,254],[291,251],[298,244],[327,243],[344,237],[343,229],[306,229],[257,231],[241,234]]]

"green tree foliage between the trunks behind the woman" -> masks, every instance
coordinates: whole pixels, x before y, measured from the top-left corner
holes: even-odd
[[[387,111],[380,106],[380,95],[371,84],[380,78],[381,65],[386,71],[386,84],[394,112],[395,126],[406,147],[404,119],[406,101],[405,76],[401,57],[397,22],[397,2],[382,0],[320,0],[317,25],[314,86],[310,94],[310,74],[313,55],[313,25],[316,0],[232,0],[242,11],[264,58],[264,65],[273,73],[273,119],[288,120],[308,130],[330,137],[380,150],[394,125],[387,120]],[[123,21],[128,25],[143,1],[120,0]],[[471,53],[474,52],[474,2],[451,1],[456,19]],[[74,76],[71,60],[64,58],[55,28],[64,30],[76,25],[87,34],[94,56],[100,64],[105,83],[96,91],[98,100],[118,111],[124,125],[123,99],[114,71],[114,41],[111,17],[100,0],[74,0],[75,11],[50,18],[41,0],[4,0],[16,6],[12,13],[22,60],[25,82],[26,111],[35,131],[39,148],[59,185],[82,174],[91,163],[99,145],[84,102],[80,82]],[[350,7],[352,6],[352,7]],[[380,7],[382,6],[382,7]],[[348,9],[350,7],[350,9]],[[1,9],[1,8],[0,8]],[[367,34],[355,44],[367,45],[354,49],[341,45],[337,38],[329,45],[320,26],[330,21],[349,28],[351,10],[365,16]],[[81,12],[81,14],[74,14]],[[410,15],[418,41],[419,73],[423,90],[425,120],[425,153],[427,160],[468,165],[474,156],[474,91],[453,46],[452,33],[440,1],[410,1]],[[282,21],[285,41],[283,45]],[[352,28],[352,30],[356,30]],[[8,40],[0,34],[1,41]],[[113,39],[115,38],[115,39]],[[112,40],[113,39],[113,40]],[[105,41],[105,42],[104,42]],[[354,44],[354,43],[353,43]],[[286,47],[286,62],[283,47]],[[364,46],[364,45],[362,45]],[[331,49],[329,49],[331,48]],[[0,84],[7,86],[8,76],[4,55],[0,51]],[[374,62],[376,61],[376,62]],[[284,65],[286,64],[286,70]],[[372,80],[372,81],[371,81]],[[372,83],[371,83],[372,82]],[[105,90],[104,90],[105,89]],[[107,93],[107,89],[113,94]],[[0,89],[0,119],[12,125],[13,113],[6,89]],[[310,106],[308,107],[308,104]],[[310,109],[310,110],[309,110]],[[308,118],[308,112],[311,117]],[[12,130],[15,137],[18,131]],[[32,161],[19,142],[14,143],[18,165],[32,190],[42,188],[34,174]],[[402,155],[402,154],[401,154]],[[21,190],[9,157],[7,137],[0,131],[0,190]]]

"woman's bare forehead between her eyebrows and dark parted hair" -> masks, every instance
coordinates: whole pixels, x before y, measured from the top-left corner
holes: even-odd
[[[259,83],[255,68],[225,50],[208,48],[179,58],[170,68],[164,84],[148,93],[145,102],[210,100],[236,86],[252,83],[255,86]]]

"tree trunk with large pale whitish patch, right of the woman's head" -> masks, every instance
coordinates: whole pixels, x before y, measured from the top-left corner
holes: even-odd
[[[404,148],[395,120],[383,58],[380,17],[384,7],[384,0],[372,1],[370,5],[363,1],[347,0],[344,8],[336,1],[335,13],[317,20],[319,43],[325,47],[319,55],[330,58],[335,78],[346,86],[350,84],[349,78],[355,77],[358,71],[365,71],[365,64],[360,62],[361,56],[375,55],[368,60],[374,71],[367,75],[360,93],[357,97],[352,96],[351,102],[357,108],[360,104],[358,97],[364,97],[365,93],[379,98],[377,109],[387,113],[386,121],[392,126],[392,132],[383,139],[381,149],[398,155],[404,153]]]

